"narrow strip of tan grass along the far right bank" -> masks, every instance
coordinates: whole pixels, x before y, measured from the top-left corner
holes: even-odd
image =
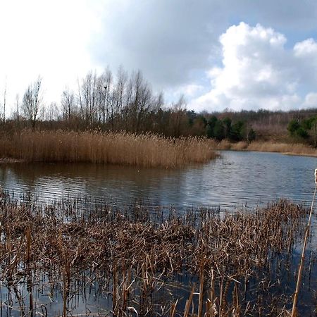
[[[279,142],[260,142],[254,141],[251,143],[237,142],[231,143],[228,140],[221,141],[215,149],[220,150],[235,150],[235,151],[265,151],[278,152],[282,154],[293,154],[303,156],[317,156],[317,149],[309,147],[302,143],[279,143]]]

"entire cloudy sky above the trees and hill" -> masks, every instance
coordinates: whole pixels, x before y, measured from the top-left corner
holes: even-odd
[[[0,1],[0,103],[120,65],[196,111],[317,106],[317,1]]]

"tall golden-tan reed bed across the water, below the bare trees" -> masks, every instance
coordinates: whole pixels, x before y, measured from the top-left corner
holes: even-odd
[[[89,162],[175,168],[204,163],[216,154],[209,140],[126,132],[24,130],[0,138],[0,156],[27,162]]]

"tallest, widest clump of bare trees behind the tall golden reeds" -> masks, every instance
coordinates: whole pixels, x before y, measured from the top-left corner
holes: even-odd
[[[67,108],[68,96],[63,99]],[[163,95],[154,96],[141,71],[129,78],[120,67],[115,77],[107,68],[99,76],[89,72],[81,83],[78,80],[78,101],[85,123],[139,133],[151,126],[147,119],[154,118],[153,112],[160,108]]]

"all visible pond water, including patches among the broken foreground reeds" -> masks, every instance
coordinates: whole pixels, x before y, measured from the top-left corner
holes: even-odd
[[[316,162],[316,158],[304,156],[221,151],[220,157],[216,160],[177,170],[83,163],[15,163],[0,165],[0,185],[6,192],[14,192],[15,196],[22,197],[29,192],[46,201],[61,197],[89,197],[121,206],[131,204],[137,199],[149,201],[149,204],[154,206],[219,206],[221,209],[233,210],[245,206],[264,206],[278,198],[310,204],[315,187],[313,173]],[[316,228],[315,219],[313,228]],[[311,235],[310,239],[311,244],[306,252],[306,259],[310,260],[306,260],[309,263],[306,264],[299,298],[302,316],[314,316],[316,304],[312,302],[316,294],[316,234]],[[286,264],[282,268],[278,264],[273,273],[268,273],[268,285],[272,282],[270,290],[266,293],[270,296],[285,294],[290,297],[293,294],[301,249],[302,244],[294,246],[290,263],[288,260],[285,261]],[[278,261],[280,258],[276,263],[280,263]],[[273,267],[273,263],[271,266]],[[274,270],[279,270],[279,273]],[[4,316],[20,316],[19,298],[25,299],[28,306],[27,296],[30,294],[33,294],[33,300],[38,304],[37,307],[35,305],[35,310],[42,309],[43,316],[43,309],[47,309],[51,316],[61,315],[61,283],[58,282],[59,286],[56,286],[53,296],[46,275],[39,275],[39,278],[42,278],[42,284],[39,283],[38,287],[35,285],[32,292],[27,289],[25,281],[20,283],[17,290],[6,287],[0,281],[0,302],[4,303],[1,304],[0,316],[2,311]],[[258,282],[254,280],[254,283]],[[189,285],[189,280],[185,278],[182,283]],[[111,297],[99,292],[97,282],[90,282],[89,285],[89,288],[84,287],[78,294],[74,293],[68,303],[73,307],[74,316],[89,313],[93,316],[106,315],[105,311],[112,306]],[[165,288],[161,292],[164,291]],[[188,290],[182,294],[180,289],[178,294],[182,295],[184,301],[189,296]]]

